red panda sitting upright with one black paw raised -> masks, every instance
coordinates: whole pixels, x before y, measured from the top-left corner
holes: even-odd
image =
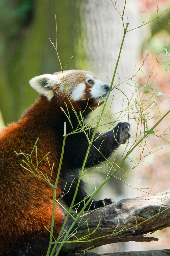
[[[55,163],[51,179],[51,183],[54,184],[63,144],[64,122],[67,134],[79,127],[65,91],[74,110],[77,113],[81,111],[85,120],[92,109],[103,103],[101,96],[105,99],[110,89],[89,71],[68,70],[63,74],[57,72],[32,78],[29,83],[40,94],[38,100],[18,122],[8,125],[0,132],[0,256],[42,255],[42,241],[47,241],[47,244],[49,241],[47,229],[50,230],[52,218],[53,188],[22,168],[20,164],[23,155],[16,155],[14,151],[21,150],[30,154],[39,138],[38,158],[42,159],[50,152],[49,162],[51,165]],[[61,108],[66,114],[69,112],[72,126]],[[114,132],[108,131],[101,136],[96,133],[92,143],[94,147],[91,146],[85,167],[92,167],[99,161],[104,161],[121,143],[125,143],[130,137],[129,128],[128,123],[119,123]],[[89,129],[89,138],[92,137],[92,133],[93,129]],[[66,193],[70,189],[69,193],[62,197],[62,201],[68,206],[74,195],[79,168],[83,164],[87,147],[88,140],[83,132],[66,138],[56,194],[59,199],[63,191]],[[101,153],[97,150],[99,147]],[[32,157],[35,161],[36,155],[33,154]],[[50,168],[45,159],[39,164],[39,169],[50,176]],[[75,204],[86,196],[84,183],[81,181]],[[112,199],[94,200],[90,204],[90,209],[110,203],[113,203]],[[78,210],[83,205],[84,203],[80,203]],[[59,234],[64,219],[64,212],[56,203],[54,237]]]

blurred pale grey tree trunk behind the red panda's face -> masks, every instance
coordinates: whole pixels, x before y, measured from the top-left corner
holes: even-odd
[[[115,1],[113,2],[115,3]],[[80,1],[77,1],[77,5],[79,3]],[[117,1],[116,7],[120,14],[122,14],[124,3],[125,1],[123,0]],[[91,70],[101,81],[109,84],[109,81],[112,80],[124,33],[121,17],[116,9],[114,9],[110,0],[86,0],[83,1],[83,4],[81,4],[79,8],[81,24],[77,24],[79,36],[78,41],[75,44],[76,68]],[[128,29],[134,28],[141,23],[135,0],[130,0],[126,3],[124,15],[125,24],[127,16],[129,22]],[[141,43],[141,30],[134,30],[126,34],[117,69],[117,73],[120,77],[132,76],[135,65],[138,64]],[[82,47],[84,49],[83,51]],[[86,56],[84,56],[84,52],[86,53]],[[121,83],[124,80],[126,79],[120,78],[119,82]],[[118,84],[117,76],[114,81],[114,84],[116,83]],[[129,84],[123,83],[119,86],[119,89],[122,90],[127,97],[132,96],[133,88],[130,87]],[[115,94],[115,97],[112,103],[111,114],[121,111],[123,98],[123,106],[127,106],[127,100],[120,91],[115,89],[112,91],[112,95],[113,94]],[[110,97],[110,100],[111,98],[112,96]],[[117,116],[114,116],[114,118],[116,117]],[[112,119],[114,120],[114,118]],[[126,118],[127,117],[124,117],[123,119]],[[125,122],[126,121],[127,120],[125,120]],[[131,130],[133,130],[133,122],[131,122],[131,125]],[[121,150],[119,152],[121,152]],[[130,166],[126,166],[126,169],[130,169]],[[102,172],[100,172],[100,170],[102,170]],[[88,173],[88,175],[92,176],[93,174],[94,178],[85,177],[85,181],[91,184],[91,192],[95,189],[94,182],[96,187],[98,187],[98,185],[106,178],[106,170],[97,169],[97,172],[95,173]],[[135,179],[135,177],[133,179]],[[125,184],[122,186],[122,182],[115,182],[115,180],[112,179],[107,186],[104,186],[96,195],[96,200],[105,197],[111,197],[117,201],[120,198],[132,197],[132,195],[130,196],[130,194],[128,194],[127,186],[125,187]],[[137,245],[136,248],[140,249],[140,245]],[[101,249],[95,249],[95,252],[106,253],[109,251],[115,252],[127,249],[130,249],[127,243],[121,243],[113,245],[113,248],[111,248],[110,245],[107,245]],[[133,249],[135,249],[135,245],[133,245]]]

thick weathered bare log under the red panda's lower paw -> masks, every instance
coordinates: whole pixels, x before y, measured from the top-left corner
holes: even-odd
[[[64,244],[62,250],[79,252],[110,243],[158,240],[154,237],[146,237],[144,234],[169,227],[169,216],[170,190],[155,195],[123,199],[87,212],[83,218],[80,218],[79,226],[77,223],[78,228],[73,232],[74,236],[70,238],[70,243]],[[72,222],[71,217],[69,222]],[[82,237],[84,239],[80,239]],[[74,242],[71,242],[72,240]]]

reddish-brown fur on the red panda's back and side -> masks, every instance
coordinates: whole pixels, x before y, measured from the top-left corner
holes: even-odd
[[[74,73],[74,72],[73,72]],[[89,72],[89,74],[91,74]],[[84,82],[84,73],[78,72],[77,78],[70,75],[65,78],[67,88],[73,88],[75,83]],[[77,79],[77,80],[76,80]],[[70,82],[70,80],[72,82]],[[44,228],[50,229],[52,217],[53,189],[43,180],[35,177],[23,169],[20,164],[24,158],[16,155],[14,151],[30,154],[37,143],[38,160],[41,160],[47,152],[49,162],[53,169],[51,183],[55,183],[61,148],[57,138],[52,132],[52,126],[60,118],[60,107],[66,109],[72,107],[65,97],[56,94],[49,102],[40,96],[38,101],[23,115],[20,121],[7,126],[0,133],[0,255],[10,255],[13,245],[26,237],[28,240],[34,237],[44,237],[49,234]],[[96,107],[98,103],[89,100],[90,106]],[[83,111],[81,101],[74,102],[76,111]],[[83,102],[84,104],[84,102]],[[56,154],[57,152],[57,154]],[[35,153],[33,162],[36,162]],[[40,165],[39,170],[50,176],[50,170],[46,159]],[[60,181],[61,182],[61,181]],[[57,198],[61,195],[60,183],[57,187]],[[3,198],[3,199],[2,199]],[[56,236],[64,222],[64,213],[56,204],[54,235]],[[38,233],[37,233],[38,232]]]

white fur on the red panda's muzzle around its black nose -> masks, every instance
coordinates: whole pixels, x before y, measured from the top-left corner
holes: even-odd
[[[106,91],[104,85],[105,85],[105,84],[102,83],[99,79],[96,79],[96,80],[94,81],[94,85],[93,85],[93,87],[90,89],[91,95],[92,95],[92,97],[93,97],[94,99],[97,99],[97,98],[99,99],[99,98],[100,98],[100,101],[103,101],[103,99],[101,98],[101,96],[102,96],[103,98],[106,97],[107,91]]]

